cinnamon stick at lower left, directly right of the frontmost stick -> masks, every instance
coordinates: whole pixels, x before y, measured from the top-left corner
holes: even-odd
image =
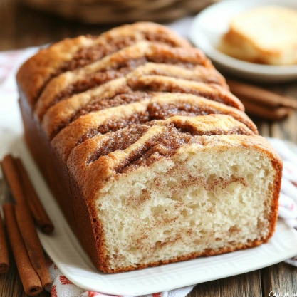
[[[15,209],[16,222],[19,225],[19,230],[21,231],[21,236],[28,251],[33,269],[41,280],[41,286],[48,286],[51,284],[51,276],[48,272],[46,258],[43,254],[41,242],[38,238],[30,210],[28,209],[28,204],[16,204]]]

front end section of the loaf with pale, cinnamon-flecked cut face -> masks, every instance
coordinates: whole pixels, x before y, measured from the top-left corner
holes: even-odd
[[[227,115],[132,125],[83,142],[67,163],[104,272],[257,246],[276,224],[282,162]]]

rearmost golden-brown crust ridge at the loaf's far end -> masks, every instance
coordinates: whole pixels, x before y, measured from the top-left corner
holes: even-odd
[[[33,106],[46,84],[57,75],[81,68],[144,40],[158,41],[173,47],[191,47],[188,41],[174,31],[150,22],[123,25],[96,37],[67,38],[41,50],[21,66],[17,74],[19,89]]]

